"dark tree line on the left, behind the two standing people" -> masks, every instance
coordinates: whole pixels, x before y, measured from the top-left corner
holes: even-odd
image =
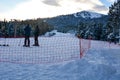
[[[31,20],[11,20],[11,21],[0,21],[0,37],[23,37],[24,36],[24,27],[29,24],[31,26],[33,36],[33,31],[38,25],[40,29],[40,35],[43,35],[47,31],[53,30],[53,26],[47,24],[44,20],[31,19]]]

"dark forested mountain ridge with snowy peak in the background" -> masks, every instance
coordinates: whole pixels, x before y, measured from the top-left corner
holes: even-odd
[[[58,31],[62,31],[62,32],[64,32],[65,30],[66,32],[69,30],[77,29],[78,24],[80,22],[87,23],[87,24],[90,24],[92,22],[105,24],[105,22],[107,22],[108,20],[108,15],[104,15],[96,12],[90,12],[90,11],[81,11],[73,14],[46,18],[44,20],[48,24],[54,26],[54,29],[57,29]]]

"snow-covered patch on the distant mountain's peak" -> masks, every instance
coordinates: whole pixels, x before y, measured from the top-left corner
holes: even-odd
[[[75,17],[82,17],[82,18],[100,18],[103,16],[103,14],[96,13],[96,12],[90,12],[90,11],[82,11],[74,14]]]

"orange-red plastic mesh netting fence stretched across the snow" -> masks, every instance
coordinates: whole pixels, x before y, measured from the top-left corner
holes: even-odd
[[[1,62],[39,64],[79,59],[81,50],[88,50],[89,40],[39,37],[39,46],[32,46],[34,38],[30,38],[30,47],[23,47],[24,38],[0,38],[0,44],[8,45],[0,46]]]

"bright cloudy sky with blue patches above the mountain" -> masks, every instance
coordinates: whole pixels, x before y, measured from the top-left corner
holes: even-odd
[[[102,14],[115,0],[0,0],[0,20],[54,17],[83,10]]]

